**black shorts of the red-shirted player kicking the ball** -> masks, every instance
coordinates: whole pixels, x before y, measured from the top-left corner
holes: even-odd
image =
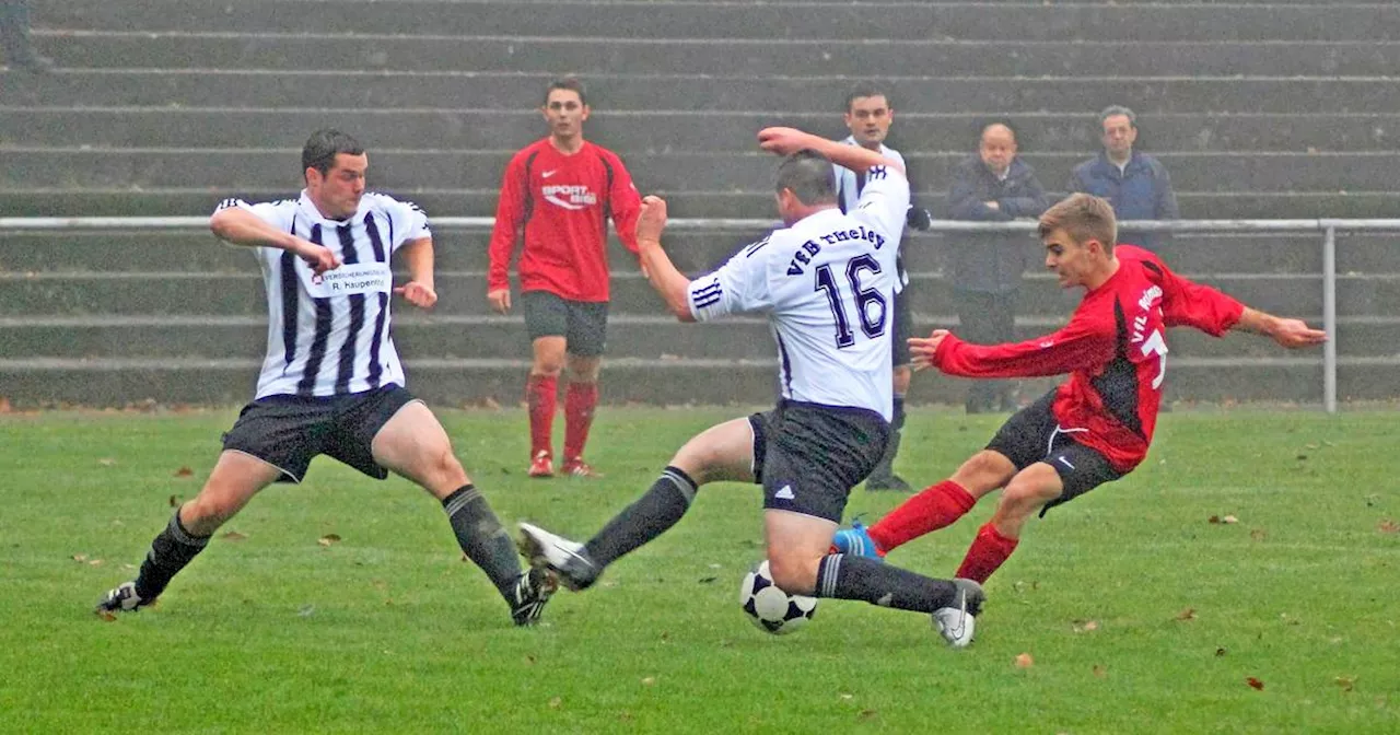
[[[1058,389],[1051,389],[1035,403],[1007,419],[997,435],[987,444],[988,449],[1011,459],[1016,465],[1016,470],[1026,469],[1036,462],[1044,462],[1060,473],[1064,491],[1046,504],[1044,510],[1040,511],[1042,515],[1054,505],[1068,503],[1124,475],[1113,469],[1109,459],[1098,449],[1074,441],[1074,435],[1082,430],[1061,427],[1054,420],[1050,407],[1054,405],[1056,391]]]

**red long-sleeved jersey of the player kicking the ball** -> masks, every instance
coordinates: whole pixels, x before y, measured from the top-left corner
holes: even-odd
[[[1084,428],[1074,440],[1098,449],[1119,472],[1147,456],[1166,377],[1168,326],[1221,336],[1243,304],[1172,273],[1156,255],[1133,245],[1114,249],[1119,270],[1084,294],[1058,332],[1018,344],[969,344],[944,339],[934,364],[949,375],[1018,378],[1070,374],[1054,399],[1056,421]]]

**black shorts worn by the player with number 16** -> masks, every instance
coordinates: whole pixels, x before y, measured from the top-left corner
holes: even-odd
[[[851,407],[784,400],[749,416],[763,507],[841,522],[846,497],[885,455],[889,421]]]

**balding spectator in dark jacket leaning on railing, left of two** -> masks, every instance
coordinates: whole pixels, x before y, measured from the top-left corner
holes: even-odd
[[[1036,218],[1050,206],[1036,172],[1016,155],[1016,133],[1005,123],[981,130],[977,154],[953,169],[949,218],[1007,223]],[[967,234],[952,239],[952,284],[958,321],[980,344],[1015,342],[1016,294],[1032,241],[1021,232]],[[977,381],[967,413],[1016,410],[1014,384]]]

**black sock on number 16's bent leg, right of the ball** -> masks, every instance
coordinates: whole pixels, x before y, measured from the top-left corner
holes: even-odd
[[[864,599],[882,608],[931,613],[953,603],[958,587],[892,567],[883,561],[850,554],[830,554],[816,568],[819,598]]]

